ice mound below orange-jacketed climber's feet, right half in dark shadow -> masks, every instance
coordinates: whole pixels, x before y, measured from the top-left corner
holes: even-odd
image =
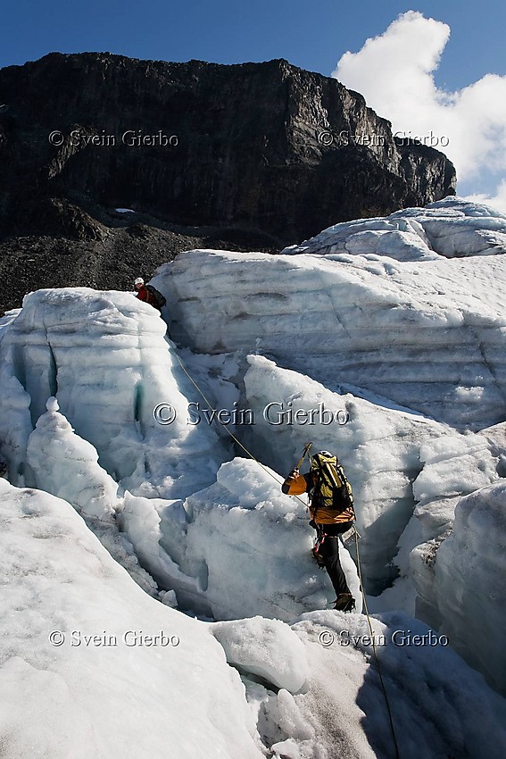
[[[294,704],[318,726],[305,746],[299,741],[301,755],[317,755],[311,750],[322,738],[343,755],[395,755],[374,639],[401,756],[478,759],[492,752],[499,759],[506,745],[505,704],[491,691],[491,700],[481,701],[487,692],[483,677],[463,666],[450,646],[434,645],[434,638],[429,644],[430,630],[418,620],[383,613],[371,623],[372,635],[361,614],[319,611],[303,614],[292,625],[306,643],[311,671],[309,688],[294,696]],[[405,645],[406,639],[426,644]]]

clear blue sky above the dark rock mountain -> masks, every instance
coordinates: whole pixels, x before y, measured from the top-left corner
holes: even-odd
[[[139,0],[18,0],[4,4],[2,10],[0,67],[36,60],[52,51],[109,51],[137,58],[197,58],[216,63],[286,58],[329,76],[344,53],[358,53],[367,38],[383,35],[400,13],[409,10],[451,29],[434,71],[435,85],[442,92],[466,88],[487,73],[506,76],[503,0],[415,4],[394,0],[149,0],[145,4]],[[375,91],[374,83],[369,82],[369,87]],[[368,90],[368,83],[364,89]],[[377,105],[373,107],[382,112],[383,104]],[[391,118],[385,113],[387,107],[386,102],[381,115]],[[492,171],[484,165],[470,178],[465,174],[466,192],[494,193],[501,171],[494,164]]]

